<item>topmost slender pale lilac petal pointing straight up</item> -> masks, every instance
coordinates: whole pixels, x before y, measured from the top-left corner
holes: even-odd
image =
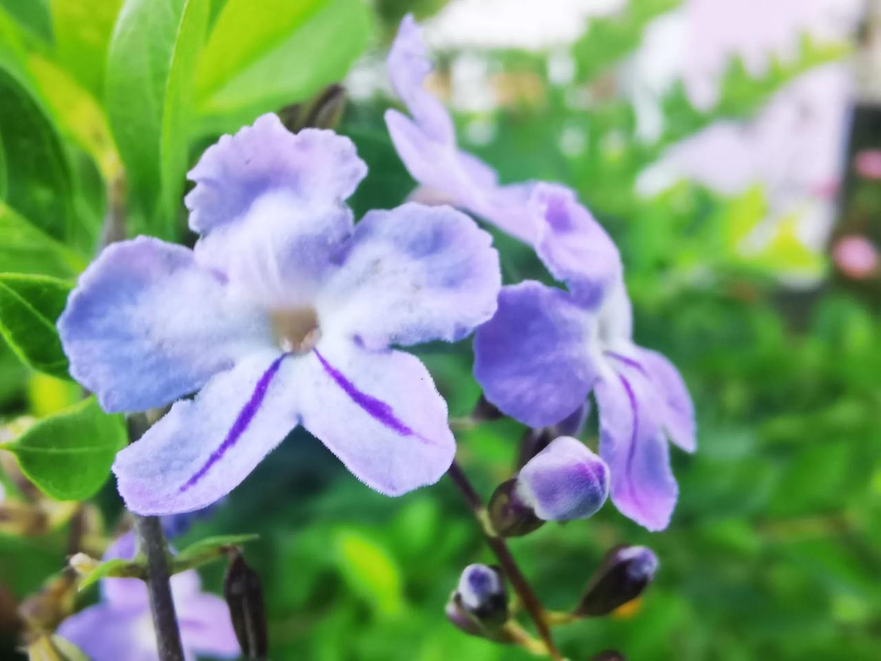
[[[432,71],[432,63],[412,14],[407,14],[401,21],[389,50],[388,66],[395,92],[426,136],[438,142],[455,142],[453,121],[447,109],[425,88],[425,78]]]

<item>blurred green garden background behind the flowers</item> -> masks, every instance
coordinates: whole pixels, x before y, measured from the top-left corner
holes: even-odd
[[[63,21],[74,18],[55,16],[47,38],[34,4],[0,1],[4,48],[19,40],[63,61]],[[224,4],[212,3],[211,20]],[[640,601],[559,630],[566,655],[881,657],[881,2],[312,4],[304,29],[330,32],[310,43],[346,55],[326,71],[318,55],[289,60],[322,74],[289,103],[264,100],[285,108],[292,125],[315,119],[317,108],[352,137],[370,167],[352,200],[356,216],[400,204],[414,188],[382,123],[396,103],[385,53],[413,11],[437,63],[430,85],[453,109],[463,148],[504,182],[559,181],[579,192],[622,251],[636,340],[669,356],[695,399],[699,451],[674,452],[681,496],[667,531],[650,534],[607,506],[587,522],[511,542],[545,603],[560,609],[610,546],[644,544],[660,558]],[[61,83],[33,79],[63,127],[82,226],[97,227],[112,207],[103,175],[114,163],[64,123],[78,107],[57,100]],[[78,80],[88,86],[87,75]],[[322,92],[334,81],[344,106],[336,88]],[[253,119],[257,105],[206,114],[189,159]],[[11,97],[0,107],[8,120]],[[12,172],[9,149],[6,159]],[[506,281],[552,282],[529,249],[496,241]],[[0,248],[0,271],[29,269],[27,258]],[[451,415],[470,412],[479,395],[470,344],[427,345],[420,355]],[[4,419],[39,417],[76,397],[0,348]],[[460,457],[483,494],[510,477],[522,433],[500,420],[461,434]],[[595,437],[591,420],[584,438]],[[12,475],[11,457],[2,458]],[[112,483],[97,502],[112,530],[120,512]],[[13,534],[0,517],[2,658],[16,658],[15,605],[63,567],[68,519]],[[247,557],[265,583],[273,659],[529,657],[444,619],[462,568],[492,561],[445,481],[388,499],[295,433],[175,544],[233,532],[261,535]],[[204,572],[213,588],[221,574]]]

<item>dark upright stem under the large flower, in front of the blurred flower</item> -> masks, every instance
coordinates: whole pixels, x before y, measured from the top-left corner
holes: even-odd
[[[168,575],[168,546],[158,516],[135,515],[138,548],[147,558],[147,592],[159,661],[183,661],[181,631],[174,614]]]

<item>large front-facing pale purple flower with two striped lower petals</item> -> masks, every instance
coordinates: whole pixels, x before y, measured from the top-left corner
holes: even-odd
[[[404,204],[353,226],[352,142],[264,115],[189,173],[193,250],[105,249],[58,322],[70,373],[109,412],[198,390],[116,457],[129,509],[173,514],[227,494],[302,424],[383,494],[432,484],[455,453],[447,405],[391,345],[464,338],[500,288],[489,234]]]

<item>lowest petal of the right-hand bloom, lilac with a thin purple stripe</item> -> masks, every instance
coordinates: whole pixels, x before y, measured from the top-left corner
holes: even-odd
[[[651,384],[635,368],[596,382],[600,457],[611,471],[611,500],[622,514],[650,531],[670,524],[678,487],[670,445],[661,428]]]

